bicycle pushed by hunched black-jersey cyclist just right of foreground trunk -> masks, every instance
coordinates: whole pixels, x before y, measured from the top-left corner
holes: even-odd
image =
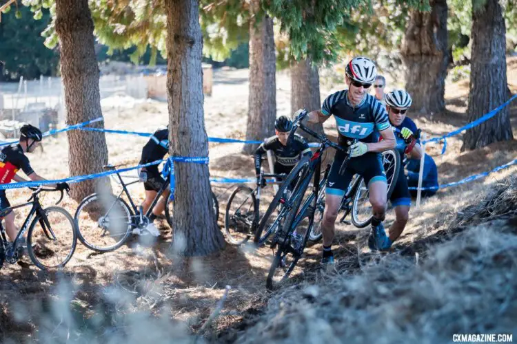
[[[267,184],[281,184],[281,180],[286,176],[285,173],[261,171],[255,189],[245,185],[236,187],[228,198],[225,213],[225,234],[231,244],[245,244],[254,235],[260,218],[261,189]],[[266,178],[274,178],[274,181],[268,181]]]

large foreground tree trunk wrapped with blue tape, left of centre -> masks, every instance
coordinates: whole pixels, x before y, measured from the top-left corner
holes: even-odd
[[[198,0],[165,0],[171,156],[208,156],[203,117],[203,37]],[[208,165],[174,162],[174,249],[208,255],[224,246],[212,211]]]

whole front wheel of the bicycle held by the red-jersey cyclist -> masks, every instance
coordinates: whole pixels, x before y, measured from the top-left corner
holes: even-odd
[[[27,252],[41,270],[63,268],[72,258],[76,245],[74,219],[65,209],[51,206],[32,220],[27,233]]]

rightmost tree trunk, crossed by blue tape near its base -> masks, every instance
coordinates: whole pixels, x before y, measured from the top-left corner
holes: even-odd
[[[498,0],[487,0],[480,9],[472,11],[469,122],[507,100],[505,54],[506,27],[503,11]],[[509,110],[505,107],[490,120],[467,130],[461,150],[513,139]]]

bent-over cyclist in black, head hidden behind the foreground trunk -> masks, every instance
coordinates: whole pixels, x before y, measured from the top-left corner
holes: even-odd
[[[162,160],[165,154],[169,152],[169,126],[165,129],[156,130],[149,141],[145,144],[142,149],[142,158],[140,160],[140,164],[148,164],[149,162],[154,162],[156,160]],[[161,176],[161,173],[158,171],[158,165],[151,165],[148,167],[143,167],[141,172],[146,174],[144,178],[145,182],[143,183],[143,187],[145,189],[145,200],[142,203],[143,213],[146,213],[151,206],[154,198],[160,191],[163,184],[165,184],[165,180]],[[170,190],[166,189],[162,193],[162,197],[156,206],[152,209],[152,214],[149,217],[149,224],[145,229],[153,235],[154,237],[159,237],[160,231],[156,226],[154,226],[154,219],[159,217],[163,211],[165,211],[165,204],[168,200],[170,194]],[[139,228],[135,228],[134,233],[140,233]]]

